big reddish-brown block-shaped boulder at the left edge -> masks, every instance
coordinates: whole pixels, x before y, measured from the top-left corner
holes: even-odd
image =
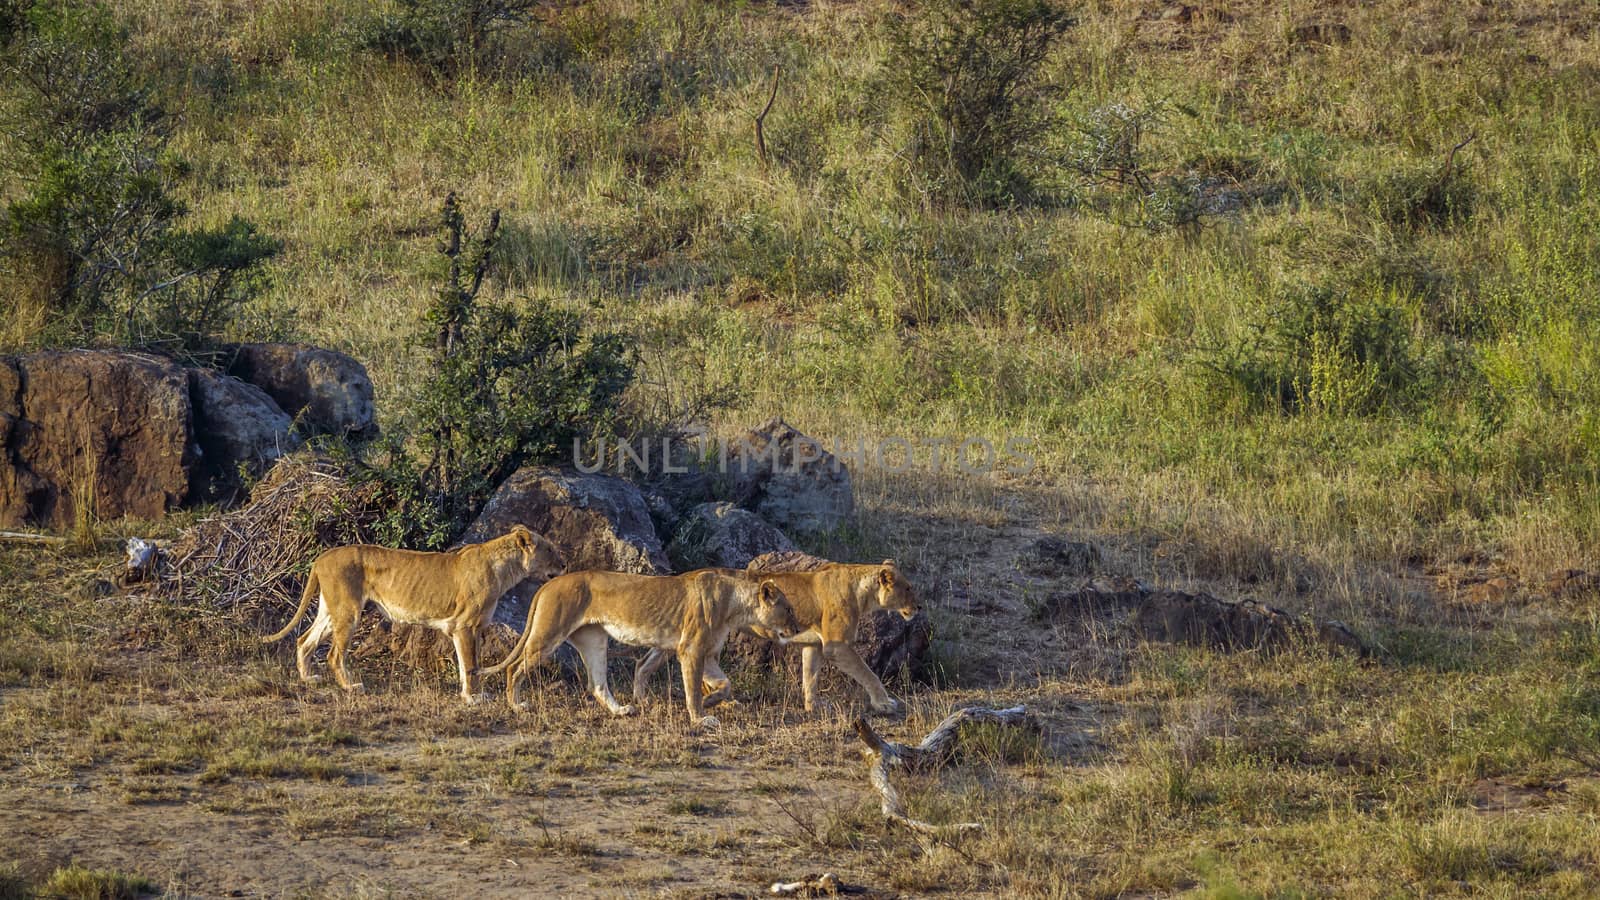
[[[160,519],[192,488],[189,378],[171,360],[61,351],[0,364],[0,522]]]

